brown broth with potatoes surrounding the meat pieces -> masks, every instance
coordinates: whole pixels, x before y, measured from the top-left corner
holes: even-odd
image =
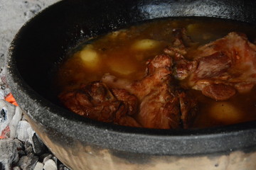
[[[142,79],[146,60],[161,54],[166,45],[171,45],[174,28],[186,28],[198,45],[222,38],[232,31],[245,33],[251,41],[256,38],[254,26],[220,19],[172,18],[143,23],[96,38],[90,45],[88,42],[80,45],[60,66],[55,89],[75,89],[80,84],[100,80],[106,73],[129,80]],[[82,52],[89,54],[91,61],[83,61]],[[256,88],[247,94],[236,94],[228,101],[214,101],[203,96],[201,91],[193,91],[200,107],[193,128],[256,120],[255,92]]]

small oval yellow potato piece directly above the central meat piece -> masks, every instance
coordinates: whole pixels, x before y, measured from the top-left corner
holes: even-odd
[[[155,47],[158,47],[160,44],[159,41],[151,40],[151,39],[143,39],[134,42],[132,45],[133,50],[151,50]]]

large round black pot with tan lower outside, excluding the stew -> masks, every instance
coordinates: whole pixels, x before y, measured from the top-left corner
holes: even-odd
[[[256,122],[203,130],[129,128],[70,113],[51,90],[58,63],[86,38],[173,16],[254,24],[255,8],[254,0],[63,0],[16,35],[6,58],[9,86],[33,129],[71,169],[256,169]]]

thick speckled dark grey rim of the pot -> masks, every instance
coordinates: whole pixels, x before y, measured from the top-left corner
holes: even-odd
[[[67,1],[60,1],[53,6]],[[41,13],[50,10],[53,6]],[[23,28],[26,28],[26,25]],[[178,155],[231,152],[256,145],[256,121],[215,128],[158,130],[101,123],[60,108],[31,89],[18,72],[15,60],[18,56],[16,44],[21,36],[22,33],[19,31],[11,42],[5,64],[6,78],[18,104],[39,130],[43,130],[55,140],[56,145],[61,145],[62,142],[75,145],[76,142],[80,142],[82,145],[93,145],[120,152]],[[97,135],[94,134],[95,132]],[[59,134],[57,136],[62,141],[54,136],[56,134]],[[222,145],[224,143],[225,145]]]

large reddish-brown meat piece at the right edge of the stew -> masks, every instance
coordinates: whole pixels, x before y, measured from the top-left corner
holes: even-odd
[[[215,100],[226,100],[236,91],[250,91],[256,83],[256,45],[245,35],[229,33],[188,52],[174,57],[174,74],[187,79],[187,86],[200,90]]]

